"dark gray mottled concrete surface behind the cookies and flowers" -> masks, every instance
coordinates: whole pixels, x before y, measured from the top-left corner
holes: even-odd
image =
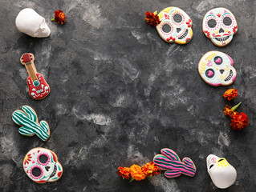
[[[144,13],[177,6],[193,20],[193,38],[179,46],[164,42]],[[230,45],[214,46],[201,30],[205,13],[223,6],[238,21]],[[46,18],[49,38],[30,38],[14,21],[30,7]],[[51,22],[61,9],[67,22]],[[0,4],[0,191],[256,191],[255,22],[252,0],[2,0]],[[203,54],[220,50],[234,59],[233,85],[213,87],[197,72]],[[27,92],[22,54],[35,54],[35,66],[51,94],[34,101]],[[238,89],[238,111],[249,126],[238,132],[222,112],[222,94]],[[51,127],[47,142],[18,134],[11,120],[23,105]],[[30,149],[53,150],[63,165],[58,182],[39,185],[22,169]],[[128,183],[118,166],[144,165],[162,148],[197,166],[194,178],[163,174]],[[218,190],[206,170],[208,154],[225,157],[238,172],[234,186]]]

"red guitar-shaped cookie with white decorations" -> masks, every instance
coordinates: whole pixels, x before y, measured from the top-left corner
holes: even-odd
[[[26,78],[26,83],[29,89],[31,98],[36,100],[43,99],[50,94],[50,86],[43,78],[43,74],[38,74],[34,65],[34,54],[26,53],[20,58],[22,65],[26,66],[29,77]]]

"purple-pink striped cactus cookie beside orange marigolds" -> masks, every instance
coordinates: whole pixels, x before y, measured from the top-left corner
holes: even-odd
[[[166,178],[177,178],[181,174],[193,177],[196,174],[197,168],[190,158],[183,158],[168,148],[162,149],[161,154],[156,154],[153,162],[160,170],[165,171]]]

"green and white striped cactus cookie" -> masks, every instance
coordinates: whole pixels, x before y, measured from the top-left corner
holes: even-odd
[[[50,137],[50,127],[46,121],[38,122],[38,116],[30,106],[22,106],[22,110],[15,110],[13,121],[21,126],[18,132],[25,136],[37,135],[44,142]]]

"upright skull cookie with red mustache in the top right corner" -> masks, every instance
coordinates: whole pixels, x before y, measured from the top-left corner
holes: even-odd
[[[203,19],[203,31],[215,46],[228,45],[238,32],[238,23],[234,14],[226,8],[209,10]]]

